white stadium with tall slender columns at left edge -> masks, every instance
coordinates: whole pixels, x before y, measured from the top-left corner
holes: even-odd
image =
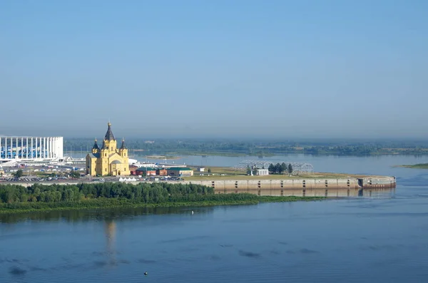
[[[63,137],[0,136],[0,162],[63,158]]]

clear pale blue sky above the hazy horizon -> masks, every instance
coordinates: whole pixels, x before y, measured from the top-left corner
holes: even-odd
[[[0,1],[0,135],[428,138],[428,1]]]

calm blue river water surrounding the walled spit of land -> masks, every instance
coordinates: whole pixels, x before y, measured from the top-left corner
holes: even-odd
[[[397,189],[322,202],[2,215],[0,282],[427,282],[428,170],[392,165],[428,157],[269,159],[395,175]]]

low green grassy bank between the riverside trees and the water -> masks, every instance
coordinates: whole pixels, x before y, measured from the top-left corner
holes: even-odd
[[[118,207],[200,207],[215,205],[256,205],[261,202],[295,202],[325,199],[325,197],[270,197],[250,194],[228,194],[228,197],[223,196],[224,195],[210,195],[209,197],[206,197],[205,200],[160,203],[146,203],[116,198],[98,198],[67,202],[16,202],[11,204],[1,203],[0,214],[48,212],[53,210],[89,210]]]

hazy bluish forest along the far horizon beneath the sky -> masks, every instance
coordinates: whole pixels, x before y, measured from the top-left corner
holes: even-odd
[[[64,152],[87,152],[93,139],[65,138]],[[198,140],[129,139],[126,146],[142,155],[314,155],[428,154],[428,140]]]

